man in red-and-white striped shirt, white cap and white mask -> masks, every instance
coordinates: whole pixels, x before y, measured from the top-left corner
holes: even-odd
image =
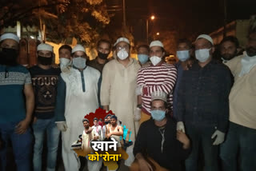
[[[150,119],[151,93],[155,90],[165,92],[168,97],[168,109],[172,107],[172,92],[177,77],[175,66],[163,61],[165,50],[162,42],[156,40],[150,43],[150,66],[142,67],[138,71],[136,94],[142,98],[136,109],[136,115],[141,116],[140,123]]]

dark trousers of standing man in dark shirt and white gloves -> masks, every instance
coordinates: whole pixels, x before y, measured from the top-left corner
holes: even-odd
[[[198,151],[202,145],[205,161],[205,171],[218,171],[218,145],[213,145],[211,139],[215,129],[213,127],[198,127],[186,125],[186,133],[192,143],[192,151],[186,159],[186,171],[198,171]]]

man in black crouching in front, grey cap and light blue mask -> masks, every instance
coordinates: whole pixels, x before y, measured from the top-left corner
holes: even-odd
[[[166,93],[152,93],[151,118],[142,123],[134,145],[136,160],[130,170],[182,170],[190,154],[190,140],[166,115]]]

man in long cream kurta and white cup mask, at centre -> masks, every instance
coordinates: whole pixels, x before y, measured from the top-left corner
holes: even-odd
[[[116,59],[106,63],[102,71],[101,103],[103,109],[112,110],[122,121],[122,125],[130,128],[131,141],[135,141],[134,110],[137,107],[135,94],[137,73],[140,68],[138,62],[130,58],[130,42],[127,38],[118,38],[114,44]],[[127,148],[129,158],[127,166],[134,161],[133,145]]]

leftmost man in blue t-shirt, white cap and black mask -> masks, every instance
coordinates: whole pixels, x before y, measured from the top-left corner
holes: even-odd
[[[32,135],[30,121],[34,92],[30,73],[18,65],[19,38],[2,34],[0,38],[0,170],[6,170],[6,151],[11,142],[18,170],[30,170]]]

